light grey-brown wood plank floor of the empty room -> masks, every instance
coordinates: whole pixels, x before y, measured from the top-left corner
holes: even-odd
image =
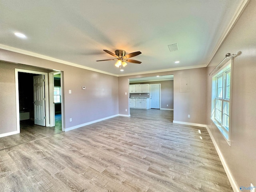
[[[0,150],[0,191],[231,192],[206,129],[157,112],[162,117],[144,110]]]

